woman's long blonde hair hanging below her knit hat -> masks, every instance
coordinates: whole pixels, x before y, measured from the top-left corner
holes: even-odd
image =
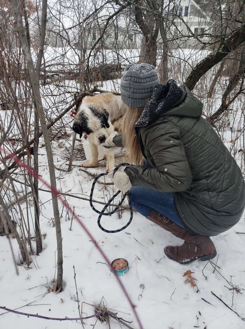
[[[126,107],[123,120],[123,145],[126,147],[130,164],[139,165],[143,159],[140,149],[139,137],[135,132],[135,123],[141,116],[144,107]]]

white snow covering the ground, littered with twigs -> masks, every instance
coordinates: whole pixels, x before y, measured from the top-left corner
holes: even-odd
[[[71,59],[71,54],[67,54],[67,57]],[[175,55],[178,56],[177,50]],[[201,60],[203,53],[199,55],[198,53],[196,58]],[[50,51],[47,56],[52,59],[55,54]],[[47,60],[49,60],[48,57]],[[65,84],[67,86],[68,83],[65,82]],[[103,89],[111,90],[114,89],[114,86],[118,88],[119,85],[120,80],[107,81],[103,83]],[[74,90],[75,87],[75,82],[70,81],[69,88]],[[43,93],[50,93],[51,91],[54,94],[56,93],[56,87],[52,85],[47,90],[45,88],[42,87]],[[60,90],[62,91],[62,89]],[[217,94],[213,100],[212,109],[218,107],[219,96]],[[71,96],[68,98],[62,97],[59,99],[59,111],[62,111],[67,103],[71,101]],[[62,103],[62,101],[65,102]],[[204,102],[206,102],[205,111],[208,111],[210,104],[205,99]],[[235,123],[239,121],[241,116],[239,102],[240,100],[234,105],[234,108],[236,106],[238,110],[237,113],[232,114]],[[44,105],[48,108],[48,104],[44,103]],[[7,124],[8,118],[4,119],[7,112],[1,112],[1,117]],[[72,122],[68,114],[63,121],[66,121],[67,126],[71,127]],[[69,132],[69,129],[67,130]],[[232,143],[230,141],[234,137],[233,134],[235,133],[229,129],[224,129],[222,132],[224,142],[231,150]],[[41,143],[43,143],[42,138],[40,139]],[[62,170],[67,168],[65,163],[68,163],[67,155],[68,150],[71,149],[71,144],[72,136],[69,139],[59,139],[52,142],[55,165],[61,169],[56,169],[57,188],[63,192],[89,198],[93,181],[91,177],[79,171],[79,167],[73,167],[70,172]],[[39,174],[49,182],[45,148],[40,148],[39,153]],[[239,163],[238,154],[236,156]],[[241,157],[242,154],[239,156]],[[80,161],[73,162],[77,165],[81,163]],[[100,166],[98,168],[89,168],[89,171],[98,174],[103,172],[104,169],[105,167]],[[22,179],[21,175],[17,177],[20,180]],[[110,186],[106,187],[107,190],[104,190],[103,185],[97,184],[94,192],[96,200],[104,201],[103,193],[112,194]],[[21,186],[19,188],[21,191]],[[60,214],[62,214],[64,285],[62,292],[58,294],[48,293],[48,286],[52,287],[54,277],[56,277],[56,231],[51,220],[53,217],[51,194],[39,191],[39,198],[41,208],[40,229],[41,233],[46,235],[46,238],[43,240],[43,252],[39,256],[32,256],[33,262],[30,268],[25,265],[18,265],[19,275],[16,275],[9,242],[6,237],[0,237],[0,306],[15,309],[32,303],[33,305],[25,306],[19,311],[52,317],[79,317],[73,271],[73,266],[75,266],[80,304],[81,302],[99,304],[103,296],[108,308],[118,312],[118,316],[125,320],[132,321],[129,324],[132,328],[139,328],[139,324],[136,322],[114,274],[110,272],[105,264],[102,264],[104,260],[97,248],[75,220],[73,220],[70,230],[71,216],[67,215],[65,210],[62,212],[61,203],[59,203],[59,206]],[[191,264],[180,265],[168,259],[164,254],[165,246],[180,245],[182,241],[138,213],[134,213],[132,223],[126,230],[117,234],[107,234],[99,229],[97,225],[98,214],[92,211],[88,201],[69,196],[66,197],[66,200],[72,208],[75,207],[75,212],[92,232],[97,243],[111,261],[120,257],[128,261],[129,271],[121,277],[121,280],[136,305],[136,311],[145,329],[190,329],[194,326],[201,329],[244,328],[245,323],[242,319],[211,293],[213,291],[241,317],[245,317],[245,235],[236,233],[245,232],[244,215],[232,229],[212,238],[219,255],[218,258],[216,257],[213,260],[214,266],[216,261],[217,266],[219,266],[216,268],[219,271],[218,273],[217,270],[213,271],[214,268],[211,263],[195,261]],[[103,208],[102,205],[96,203],[94,205],[97,209]],[[26,214],[26,205],[22,204],[21,207],[23,213]],[[31,205],[31,212],[34,214],[33,205]],[[18,214],[17,209],[16,213]],[[101,224],[107,229],[118,229],[126,224],[129,215],[129,212],[125,210],[122,219],[119,219],[117,214],[105,216],[102,217]],[[34,236],[33,227],[31,233]],[[15,260],[19,262],[19,249],[16,239],[11,239],[11,243]],[[35,249],[34,241],[33,247]],[[184,283],[186,277],[183,277],[183,274],[187,270],[194,272],[193,276],[197,279],[198,292],[196,287],[192,288]],[[230,282],[232,280],[232,283],[239,287],[241,293],[234,291],[233,296],[233,291],[228,289],[230,285],[226,280]],[[83,306],[83,311],[83,316],[94,314],[94,308],[88,305]],[[1,313],[4,313],[4,311],[0,310]],[[95,324],[95,322],[95,318],[85,320],[87,324],[85,328],[90,328],[90,325]],[[110,325],[112,329],[120,328],[120,325],[113,319],[110,320]],[[16,327],[25,329],[33,329],[33,327],[36,329],[73,329],[78,326],[81,325],[75,321],[51,321],[11,313],[0,316],[0,329]],[[105,323],[100,323],[100,321],[95,325],[95,328],[98,329],[107,327]]]

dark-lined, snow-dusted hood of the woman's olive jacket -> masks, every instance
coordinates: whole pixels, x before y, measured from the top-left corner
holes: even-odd
[[[203,104],[186,86],[168,80],[166,85],[157,84],[135,127],[145,127],[162,115],[198,118]]]

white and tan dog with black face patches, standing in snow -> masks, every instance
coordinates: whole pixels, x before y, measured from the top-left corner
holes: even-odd
[[[98,145],[103,143],[109,135],[117,131],[122,133],[123,115],[126,106],[121,96],[112,93],[103,93],[87,96],[78,105],[73,130],[82,137],[87,135],[91,148],[92,158],[83,164],[84,167],[98,165]],[[107,152],[106,172],[114,169],[114,151]]]

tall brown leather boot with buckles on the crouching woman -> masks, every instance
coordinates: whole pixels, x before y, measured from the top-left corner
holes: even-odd
[[[210,237],[191,234],[155,210],[152,210],[146,218],[172,233],[175,237],[185,240],[181,246],[167,246],[164,249],[168,258],[180,264],[188,264],[196,259],[208,261],[217,255]]]

